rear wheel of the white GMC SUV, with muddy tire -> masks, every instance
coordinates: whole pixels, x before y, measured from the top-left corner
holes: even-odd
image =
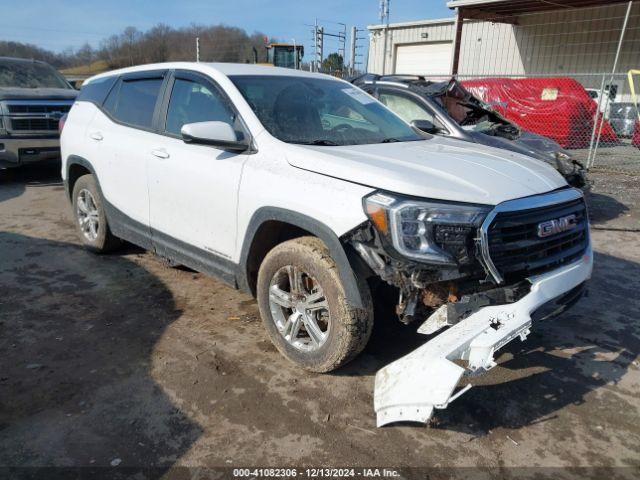
[[[76,230],[85,248],[105,253],[122,244],[109,229],[104,202],[93,175],[83,175],[76,180],[71,198]]]

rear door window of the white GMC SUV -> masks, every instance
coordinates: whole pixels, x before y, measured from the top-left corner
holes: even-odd
[[[111,91],[104,108],[119,122],[150,129],[161,86],[161,78],[123,80]]]

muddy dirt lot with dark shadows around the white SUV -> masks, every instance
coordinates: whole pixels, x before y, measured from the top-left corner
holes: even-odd
[[[376,429],[374,374],[425,341],[416,326],[378,318],[348,367],[299,371],[250,297],[134,247],[87,253],[56,170],[0,172],[0,466],[638,475],[640,178],[594,181],[590,296],[509,345],[430,428]]]

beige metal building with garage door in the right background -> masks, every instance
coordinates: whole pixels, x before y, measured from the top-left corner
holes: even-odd
[[[640,68],[640,2],[454,0],[456,17],[369,28],[368,70],[420,75],[572,75]],[[594,85],[596,86],[596,85]]]

